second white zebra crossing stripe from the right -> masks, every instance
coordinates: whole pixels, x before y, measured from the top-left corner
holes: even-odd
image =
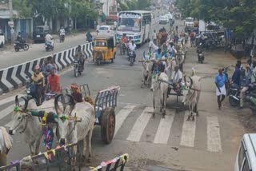
[[[184,121],[182,125],[181,145],[194,147],[196,117],[194,117],[195,118],[194,121],[186,121],[188,114],[189,114],[189,111],[186,111],[186,114],[184,115]]]

